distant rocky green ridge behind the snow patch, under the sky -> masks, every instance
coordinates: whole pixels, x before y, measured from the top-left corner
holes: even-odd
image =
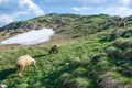
[[[33,29],[51,28],[58,34],[81,37],[117,26],[119,16],[107,14],[79,15],[51,13],[26,21],[13,22],[0,29],[1,36],[13,36]]]

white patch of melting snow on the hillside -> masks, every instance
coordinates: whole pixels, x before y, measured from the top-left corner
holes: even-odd
[[[52,29],[42,29],[42,30],[33,30],[23,34],[18,34],[11,38],[1,41],[1,44],[21,44],[21,45],[30,45],[37,44],[42,42],[50,41],[50,36],[54,34]]]

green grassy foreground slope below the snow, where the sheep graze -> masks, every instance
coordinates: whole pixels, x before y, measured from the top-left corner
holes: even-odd
[[[0,84],[8,88],[132,88],[132,36],[108,38],[110,33],[119,32],[61,43],[57,54],[48,54],[52,44],[1,48]],[[34,57],[36,65],[19,77],[14,62],[25,54]],[[117,66],[122,61],[129,64]]]

